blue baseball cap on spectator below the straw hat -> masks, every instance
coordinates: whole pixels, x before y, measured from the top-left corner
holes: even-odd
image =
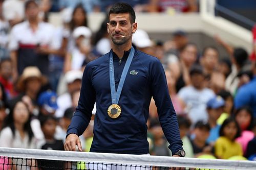
[[[38,105],[44,107],[49,113],[58,109],[57,94],[51,90],[40,93]]]

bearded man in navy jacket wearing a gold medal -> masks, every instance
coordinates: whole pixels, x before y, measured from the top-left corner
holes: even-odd
[[[153,96],[163,132],[175,156],[185,156],[164,69],[153,56],[132,45],[135,12],[125,3],[109,12],[112,50],[84,70],[78,107],[67,130],[65,149],[81,151],[78,138],[88,126],[94,103],[94,137],[90,152],[148,154],[147,118]],[[117,90],[116,90],[117,89]]]

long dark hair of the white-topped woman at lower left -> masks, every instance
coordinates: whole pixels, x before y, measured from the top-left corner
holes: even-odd
[[[4,121],[4,126],[3,128],[6,127],[10,127],[12,130],[12,135],[15,136],[15,126],[14,126],[14,118],[13,118],[13,114],[14,114],[14,109],[17,106],[17,103],[22,102],[26,108],[28,109],[28,106],[26,103],[24,103],[22,100],[18,100],[16,101],[11,107],[10,107],[10,113],[8,114],[8,116],[6,117],[5,121]],[[28,109],[29,112],[29,109]],[[27,122],[24,125],[24,131],[28,133],[29,135],[29,142],[31,141],[32,137],[34,136],[33,132],[32,132],[32,128],[30,126],[30,120],[31,120],[31,114],[29,113],[29,118],[27,120]]]

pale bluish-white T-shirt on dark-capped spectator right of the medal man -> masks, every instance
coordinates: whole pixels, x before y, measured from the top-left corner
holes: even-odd
[[[178,96],[186,104],[185,110],[193,124],[199,120],[207,121],[206,103],[214,98],[214,91],[209,88],[198,90],[193,86],[187,86],[180,89]]]

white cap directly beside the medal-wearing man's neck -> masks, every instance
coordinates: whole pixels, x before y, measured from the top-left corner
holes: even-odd
[[[148,46],[152,46],[150,37],[144,30],[137,30],[133,34],[132,42],[134,43],[134,45],[136,45],[139,48],[145,48]]]

